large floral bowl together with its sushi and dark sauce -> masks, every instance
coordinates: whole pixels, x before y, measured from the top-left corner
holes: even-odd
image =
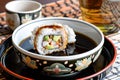
[[[104,35],[82,20],[49,17],[17,27],[12,43],[27,67],[43,75],[63,77],[80,73],[97,60]]]

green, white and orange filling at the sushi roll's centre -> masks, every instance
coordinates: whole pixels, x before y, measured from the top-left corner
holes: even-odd
[[[61,35],[45,35],[42,46],[46,50],[57,49],[63,44]]]

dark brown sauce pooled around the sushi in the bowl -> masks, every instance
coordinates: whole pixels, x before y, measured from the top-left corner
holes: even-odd
[[[33,44],[31,43],[31,38],[28,37],[25,40],[23,40],[20,43],[20,46],[28,50],[30,52],[39,54],[33,47]],[[68,56],[68,55],[75,55],[75,54],[81,54],[86,51],[89,51],[97,46],[97,43],[92,40],[91,38],[80,34],[76,33],[76,42],[74,44],[68,44],[67,48],[64,51],[59,51],[59,52],[54,52],[51,54],[46,54],[50,56]]]

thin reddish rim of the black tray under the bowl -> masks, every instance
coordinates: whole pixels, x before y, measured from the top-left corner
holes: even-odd
[[[11,36],[10,36],[9,38],[11,38]],[[9,38],[7,38],[7,39],[2,43],[2,45],[4,45]],[[106,65],[106,67],[104,67],[104,68],[101,69],[100,71],[98,71],[98,72],[96,72],[96,73],[94,73],[94,74],[92,74],[92,75],[86,76],[86,77],[78,78],[78,79],[76,79],[76,80],[86,80],[86,79],[93,78],[93,77],[95,77],[95,76],[103,73],[105,70],[109,69],[109,68],[112,66],[112,64],[115,62],[116,57],[117,57],[117,50],[116,50],[113,42],[112,42],[109,38],[107,38],[106,36],[105,36],[105,40],[107,40],[107,41],[112,45],[112,47],[113,47],[113,49],[114,49],[113,59],[108,63],[108,65]],[[1,52],[1,54],[2,54],[2,53],[3,53],[3,52]],[[1,59],[1,56],[0,56],[0,59]],[[32,78],[28,78],[28,77],[22,76],[22,75],[20,75],[20,74],[17,74],[17,73],[15,73],[15,72],[13,72],[12,70],[8,69],[7,67],[5,67],[5,66],[1,63],[1,60],[0,60],[0,67],[1,67],[4,71],[8,72],[10,75],[12,75],[12,76],[14,76],[14,77],[16,77],[16,78],[25,79],[25,80],[34,80],[34,79],[32,79]]]

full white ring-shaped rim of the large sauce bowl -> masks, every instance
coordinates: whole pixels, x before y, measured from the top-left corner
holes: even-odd
[[[101,36],[101,42],[93,49],[87,51],[87,52],[84,52],[84,54],[77,54],[77,55],[70,55],[70,56],[46,56],[46,55],[40,55],[40,54],[35,54],[35,53],[32,53],[32,52],[29,52],[23,48],[21,48],[20,46],[18,46],[15,42],[14,42],[14,39],[15,39],[15,34],[21,29],[21,28],[24,28],[24,26],[27,26],[31,23],[34,23],[36,21],[42,21],[42,20],[69,20],[69,21],[76,21],[76,22],[82,22],[82,23],[85,23],[87,25],[90,25],[92,28],[94,28],[95,30],[97,30]],[[83,57],[86,57],[86,56],[89,56],[95,52],[97,52],[99,49],[102,48],[103,44],[104,44],[104,35],[102,33],[102,31],[97,28],[95,25],[91,24],[91,23],[88,23],[86,21],[83,21],[83,20],[78,20],[78,19],[74,19],[74,18],[63,18],[63,17],[47,17],[47,18],[40,18],[40,19],[36,19],[36,20],[32,20],[32,21],[29,21],[25,24],[22,24],[20,25],[19,27],[17,27],[13,34],[12,34],[12,43],[14,45],[14,47],[20,51],[21,53],[25,54],[25,55],[28,55],[30,57],[33,57],[33,58],[37,58],[37,59],[42,59],[42,60],[56,60],[56,61],[65,61],[65,60],[75,60],[75,59],[79,59],[79,58],[83,58]]]

